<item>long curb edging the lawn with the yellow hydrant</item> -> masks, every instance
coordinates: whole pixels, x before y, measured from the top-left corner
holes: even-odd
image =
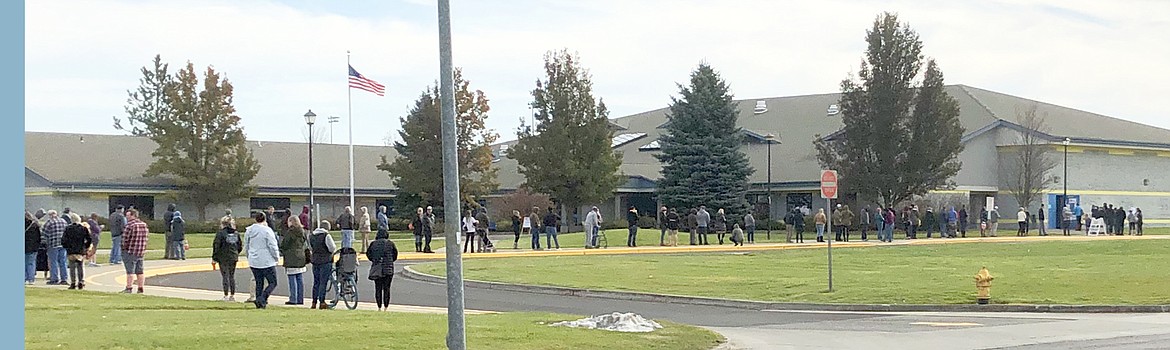
[[[428,283],[446,283],[447,279],[424,274],[411,266],[402,268],[402,276]],[[819,304],[776,303],[746,300],[715,298],[686,295],[651,294],[636,291],[592,290],[580,288],[510,284],[463,280],[463,286],[481,289],[519,291],[531,294],[583,296],[621,301],[675,303],[704,307],[723,307],[748,310],[798,310],[798,311],[887,311],[887,313],[1067,313],[1067,314],[1154,314],[1170,313],[1166,306],[1061,306],[1061,304]]]

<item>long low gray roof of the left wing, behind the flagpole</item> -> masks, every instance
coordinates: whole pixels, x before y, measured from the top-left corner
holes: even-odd
[[[84,140],[84,142],[83,142]],[[142,174],[153,162],[157,147],[145,137],[25,132],[26,186],[37,177],[56,186],[117,185],[122,187],[168,187],[161,177]],[[304,143],[249,140],[260,172],[252,184],[273,191],[308,188],[308,145]],[[314,186],[322,190],[349,186],[349,145],[314,144]],[[380,156],[397,155],[390,146],[353,146],[355,188],[388,192],[390,177],[376,166]]]

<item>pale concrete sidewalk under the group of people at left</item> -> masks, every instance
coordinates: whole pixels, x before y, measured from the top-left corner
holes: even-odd
[[[236,265],[238,269],[248,268],[248,261],[241,260]],[[145,295],[151,296],[163,296],[163,297],[178,297],[186,300],[205,300],[205,301],[220,301],[223,298],[223,293],[218,290],[204,290],[204,289],[190,289],[190,288],[173,288],[173,287],[159,287],[150,286],[150,277],[170,275],[170,274],[181,274],[181,273],[194,273],[194,272],[211,272],[212,260],[211,259],[190,259],[190,260],[146,260],[144,261],[144,276],[147,280],[146,287],[144,288]],[[43,274],[37,274],[37,282],[34,286],[36,288],[53,288],[53,289],[66,289],[68,286],[46,286],[42,279]],[[238,293],[235,294],[236,302],[242,303],[248,298],[250,294],[248,290],[254,288],[254,284],[247,279],[236,280]],[[104,293],[122,293],[126,286],[126,274],[123,266],[104,263],[99,267],[85,267],[85,290],[92,291],[104,291]],[[214,286],[219,288],[219,284]],[[277,288],[288,288],[283,284],[277,286]],[[273,295],[269,297],[269,306],[271,307],[289,307],[284,306],[288,301],[285,296]],[[295,308],[305,308],[307,306],[297,306]],[[371,302],[358,303],[358,310],[377,310],[378,307]],[[338,310],[345,310],[344,307],[339,307]],[[431,308],[431,307],[415,307],[415,306],[391,306],[391,311],[395,313],[420,313],[420,314],[447,314],[446,308]],[[493,314],[491,311],[479,311],[479,310],[466,310],[468,315],[479,314]]]

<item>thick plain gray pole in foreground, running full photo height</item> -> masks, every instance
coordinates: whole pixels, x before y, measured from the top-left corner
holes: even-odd
[[[459,249],[459,155],[455,124],[455,78],[450,57],[450,1],[439,0],[439,98],[442,135],[443,231],[447,247],[447,349],[467,349],[463,329],[463,258]],[[454,249],[452,249],[454,248]]]

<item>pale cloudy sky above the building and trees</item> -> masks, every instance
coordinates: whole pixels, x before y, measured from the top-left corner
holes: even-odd
[[[949,84],[1170,129],[1170,1],[455,0],[453,55],[508,140],[549,50],[579,54],[615,118],[667,107],[700,62],[736,98],[837,92],[882,12],[920,34]],[[438,81],[438,37],[434,0],[28,1],[26,130],[124,133],[112,118],[160,54],[226,75],[249,139],[304,142],[311,109],[325,128],[339,117],[343,144],[350,60],[387,87],[352,90],[353,142],[384,145]]]

